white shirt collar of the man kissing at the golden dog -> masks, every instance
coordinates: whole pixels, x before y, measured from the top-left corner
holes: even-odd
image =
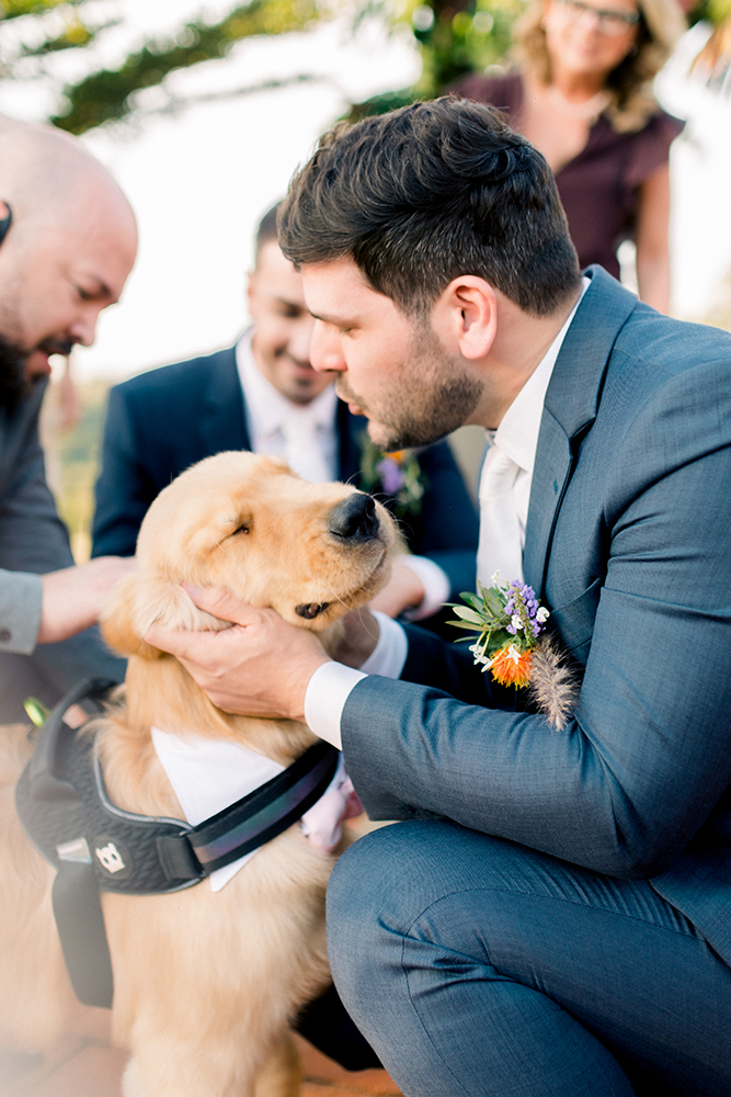
[[[498,430],[488,431],[490,442],[499,445],[503,453],[506,453],[519,468],[530,474],[533,474],[536,460],[546,389],[567,331],[581,304],[581,298],[592,284],[587,278],[582,278],[581,282],[579,299],[567,316],[563,327],[509,407]]]

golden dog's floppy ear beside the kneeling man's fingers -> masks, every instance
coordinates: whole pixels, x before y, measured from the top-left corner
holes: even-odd
[[[229,622],[199,610],[179,584],[139,572],[116,585],[100,620],[110,647],[121,655],[139,655],[144,659],[158,659],[164,654],[142,638],[153,624],[185,632],[230,627]]]

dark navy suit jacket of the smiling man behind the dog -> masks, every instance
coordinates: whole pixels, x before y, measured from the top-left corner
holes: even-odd
[[[356,485],[365,429],[366,420],[339,403],[340,478]],[[104,428],[92,556],[133,555],[148,507],[173,477],[214,453],[249,448],[233,348],[117,385]],[[401,523],[409,547],[444,568],[455,595],[470,590],[475,507],[446,442],[424,450],[420,463],[427,488],[421,514]]]

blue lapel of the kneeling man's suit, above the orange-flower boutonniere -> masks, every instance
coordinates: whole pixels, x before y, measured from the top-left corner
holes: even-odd
[[[591,428],[614,342],[637,305],[601,267],[586,271],[592,284],[576,309],[548,385],[530,487],[523,570],[539,596],[551,536],[575,461],[575,443]]]

